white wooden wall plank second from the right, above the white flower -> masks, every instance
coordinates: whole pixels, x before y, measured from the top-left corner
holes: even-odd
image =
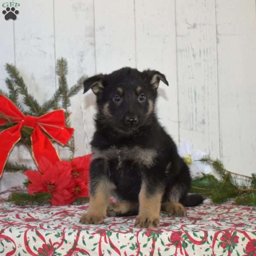
[[[215,0],[176,1],[180,140],[220,157]]]

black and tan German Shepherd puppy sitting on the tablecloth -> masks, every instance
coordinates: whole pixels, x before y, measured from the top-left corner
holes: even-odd
[[[201,195],[188,195],[189,168],[154,111],[159,82],[156,70],[124,67],[84,81],[96,94],[96,131],[91,142],[90,204],[83,224],[102,223],[107,215],[138,214],[136,227],[159,226],[160,210],[184,216]],[[117,203],[109,203],[114,195]]]

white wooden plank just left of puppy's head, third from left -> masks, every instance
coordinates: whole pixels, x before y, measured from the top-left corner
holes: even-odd
[[[82,76],[92,76],[95,70],[94,8],[93,0],[55,1],[55,49],[56,58],[68,61],[67,82],[73,86]],[[68,17],[67,19],[63,17]],[[63,29],[64,28],[64,29]],[[90,152],[90,140],[94,132],[93,115],[95,96],[81,92],[71,99],[71,122],[75,130],[76,156]],[[61,150],[61,156],[67,156]]]

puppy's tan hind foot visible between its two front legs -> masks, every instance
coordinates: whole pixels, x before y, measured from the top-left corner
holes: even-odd
[[[109,216],[124,216],[125,214],[134,213],[136,214],[139,209],[139,204],[130,201],[122,201],[118,203],[110,203],[108,205]]]

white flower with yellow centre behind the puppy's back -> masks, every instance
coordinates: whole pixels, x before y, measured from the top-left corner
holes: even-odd
[[[203,177],[212,171],[211,165],[200,161],[207,154],[204,151],[192,148],[189,142],[184,142],[178,147],[179,155],[189,166],[192,180]]]

